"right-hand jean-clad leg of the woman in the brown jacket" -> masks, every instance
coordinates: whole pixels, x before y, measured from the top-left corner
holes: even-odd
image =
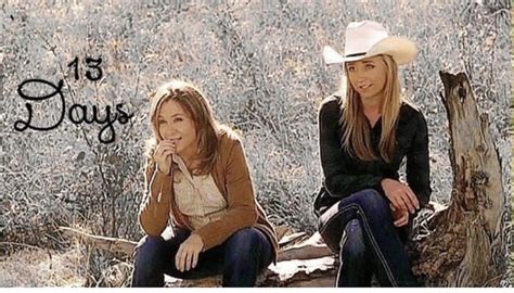
[[[223,246],[223,286],[254,286],[258,273],[272,260],[271,243],[256,228],[236,231]]]

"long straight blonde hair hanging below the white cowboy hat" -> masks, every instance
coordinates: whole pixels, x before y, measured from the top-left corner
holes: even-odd
[[[400,94],[398,65],[389,55],[380,55],[384,61],[387,73],[384,86],[384,99],[381,104],[382,135],[378,142],[380,156],[385,162],[391,162],[395,155],[396,125],[400,113],[401,102],[408,102]],[[346,76],[348,72],[345,66]],[[370,141],[371,128],[364,116],[359,93],[346,80],[346,99],[342,99],[339,125],[343,130],[342,145],[352,156],[361,161],[377,160]]]

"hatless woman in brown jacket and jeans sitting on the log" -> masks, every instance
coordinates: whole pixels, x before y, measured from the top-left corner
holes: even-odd
[[[256,202],[241,139],[220,125],[202,92],[174,80],[151,97],[153,139],[132,286],[222,273],[252,286],[277,259],[273,227]],[[172,234],[163,233],[171,219]]]

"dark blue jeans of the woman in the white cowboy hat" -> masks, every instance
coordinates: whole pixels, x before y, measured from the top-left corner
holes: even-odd
[[[416,286],[401,230],[389,205],[374,189],[356,192],[331,206],[319,220],[326,245],[339,253],[338,286]]]

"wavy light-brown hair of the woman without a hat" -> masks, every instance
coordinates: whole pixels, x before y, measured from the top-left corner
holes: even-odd
[[[215,119],[213,110],[205,95],[191,82],[174,79],[160,86],[150,97],[150,123],[153,138],[146,143],[146,155],[153,162],[156,145],[163,140],[158,131],[157,116],[166,101],[178,102],[194,122],[197,136],[198,165],[195,174],[208,174],[213,170],[218,156],[218,132],[220,124]]]

